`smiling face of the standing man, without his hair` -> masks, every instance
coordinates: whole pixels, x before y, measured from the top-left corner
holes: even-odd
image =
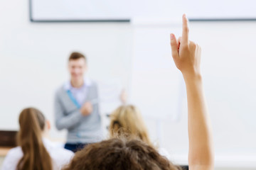
[[[71,79],[73,80],[84,79],[84,74],[87,70],[85,59],[80,58],[77,60],[70,60],[68,62],[68,70],[70,72]]]

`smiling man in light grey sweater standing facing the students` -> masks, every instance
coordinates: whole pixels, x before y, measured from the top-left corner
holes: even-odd
[[[55,93],[55,125],[67,129],[65,149],[76,152],[85,145],[102,140],[97,84],[85,77],[87,59],[73,52],[68,59],[70,81]]]

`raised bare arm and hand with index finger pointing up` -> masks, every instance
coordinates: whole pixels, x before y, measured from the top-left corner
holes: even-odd
[[[182,37],[171,34],[171,52],[181,70],[188,99],[188,166],[191,170],[212,170],[214,167],[210,119],[203,94],[200,61],[201,47],[188,40],[188,20],[183,15]]]

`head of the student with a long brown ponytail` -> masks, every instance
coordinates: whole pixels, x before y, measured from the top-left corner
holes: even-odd
[[[43,133],[50,125],[41,111],[36,108],[25,108],[21,111],[18,123],[18,145],[23,157],[19,160],[18,170],[52,169],[50,154],[43,145]]]

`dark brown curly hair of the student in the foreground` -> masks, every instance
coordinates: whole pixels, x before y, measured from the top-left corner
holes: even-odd
[[[63,170],[179,170],[156,149],[140,140],[113,138],[92,145],[75,154]]]

